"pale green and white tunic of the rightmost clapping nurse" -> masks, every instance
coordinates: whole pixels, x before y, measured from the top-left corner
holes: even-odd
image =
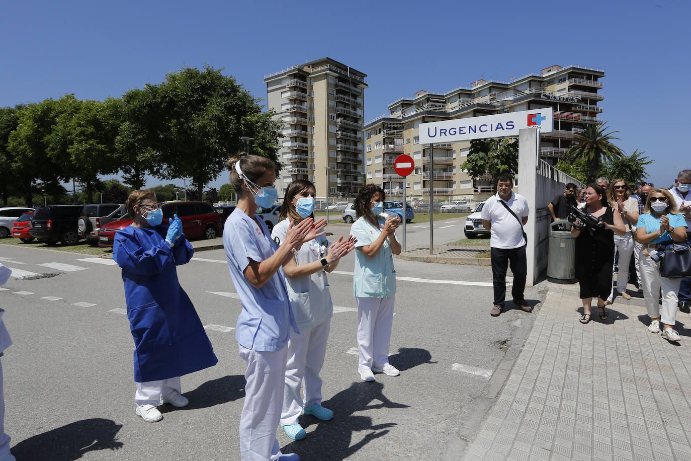
[[[374,258],[365,256],[360,248],[374,242],[381,234],[385,220],[379,219],[379,227],[361,216],[352,223],[350,234],[357,238],[355,250],[355,274],[352,279],[352,290],[358,298],[388,298],[396,294],[396,271],[393,268],[393,256],[388,238]],[[394,235],[394,238],[396,236]]]

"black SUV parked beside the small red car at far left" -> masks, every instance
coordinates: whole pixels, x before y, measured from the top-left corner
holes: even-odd
[[[79,241],[77,219],[84,205],[50,205],[39,207],[31,219],[29,235],[39,242],[75,245]]]

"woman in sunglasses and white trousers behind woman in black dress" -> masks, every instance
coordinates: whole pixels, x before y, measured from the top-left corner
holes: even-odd
[[[638,223],[638,200],[632,195],[631,187],[621,178],[614,180],[607,189],[607,201],[615,212],[618,211],[626,227],[624,235],[614,235],[614,251],[619,254],[616,291],[623,299],[631,299],[631,295],[626,292],[626,285],[629,283],[629,264],[634,254],[634,232]],[[612,301],[614,301],[614,290],[609,295],[607,304],[611,304]]]

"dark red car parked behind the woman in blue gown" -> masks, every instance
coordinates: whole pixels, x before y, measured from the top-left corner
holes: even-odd
[[[163,223],[168,223],[168,218],[177,214],[182,220],[182,232],[187,240],[198,238],[216,238],[222,227],[220,214],[216,212],[211,203],[207,202],[168,202],[161,205],[163,210]],[[112,247],[115,240],[115,232],[132,224],[129,215],[122,219],[112,221],[101,227],[98,231],[98,246]]]

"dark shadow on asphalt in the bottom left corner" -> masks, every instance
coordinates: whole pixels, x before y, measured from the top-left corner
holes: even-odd
[[[121,427],[104,418],[77,421],[22,440],[11,451],[17,461],[78,460],[88,451],[122,448],[115,438]]]

